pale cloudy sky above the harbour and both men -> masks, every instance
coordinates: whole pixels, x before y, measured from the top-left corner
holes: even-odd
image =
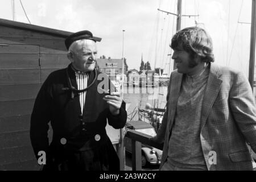
[[[28,23],[19,0],[15,20]],[[121,59],[139,69],[141,59],[169,72],[169,44],[176,32],[177,0],[21,0],[31,24],[76,32],[89,30],[102,38],[98,56]],[[13,20],[11,0],[0,0],[0,18]],[[251,0],[183,0],[181,28],[197,25],[213,39],[216,63],[248,74]],[[238,22],[246,22],[238,23]],[[125,30],[123,32],[123,30]],[[123,46],[124,45],[124,46]],[[122,49],[123,48],[123,49]]]

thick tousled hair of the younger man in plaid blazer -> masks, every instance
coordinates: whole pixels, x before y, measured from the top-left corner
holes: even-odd
[[[203,28],[188,27],[180,30],[173,36],[170,46],[177,49],[179,44],[192,58],[198,55],[206,63],[214,62],[212,39]]]

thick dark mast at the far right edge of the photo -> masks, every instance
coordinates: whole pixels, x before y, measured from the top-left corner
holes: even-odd
[[[251,43],[250,43],[250,61],[249,61],[249,82],[253,89],[254,67],[255,67],[255,39],[256,39],[256,0],[252,0],[251,6]]]

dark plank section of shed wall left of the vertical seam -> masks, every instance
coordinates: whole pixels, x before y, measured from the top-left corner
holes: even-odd
[[[19,164],[27,164],[35,160],[29,139],[29,122],[39,88],[39,46],[18,44],[0,46],[0,169],[2,170],[16,169]]]

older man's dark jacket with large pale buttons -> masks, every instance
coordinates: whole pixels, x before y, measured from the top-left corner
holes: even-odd
[[[70,65],[67,70],[71,84],[77,88],[75,71]],[[105,130],[107,118],[109,125],[115,129],[125,126],[127,119],[125,102],[122,103],[120,113],[112,115],[109,105],[102,100],[106,93],[98,92],[101,79],[96,78],[94,84],[86,91],[84,111],[81,114],[79,93],[73,92],[72,98],[72,91],[67,89],[69,86],[67,70],[60,69],[52,72],[36,97],[30,128],[30,138],[36,158],[39,158],[39,151],[45,151],[47,159],[61,158],[63,151],[86,151],[105,142],[112,144]],[[100,72],[97,73],[100,74]],[[95,73],[90,72],[88,85],[93,82],[94,77]],[[50,146],[49,122],[53,129]],[[100,135],[100,140],[95,138],[96,135]]]

